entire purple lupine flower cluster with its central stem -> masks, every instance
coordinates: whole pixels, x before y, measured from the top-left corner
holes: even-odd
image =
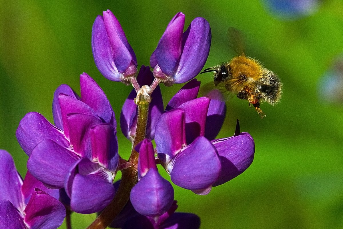
[[[157,164],[175,185],[206,195],[250,166],[255,145],[248,133],[240,133],[238,121],[234,136],[215,139],[225,103],[216,91],[198,98],[200,82],[193,79],[209,55],[211,28],[203,18],[194,19],[185,32],[184,24],[185,15],[177,13],[151,55],[153,70],[142,66],[138,71],[114,14],[107,10],[97,16],[95,65],[107,79],[133,86],[120,114],[131,156],[119,156],[115,113],[99,85],[86,73],[80,76],[80,96],[60,85],[52,101],[54,125],[31,112],[17,128],[29,157],[24,183],[9,154],[0,151],[0,163],[7,164],[0,176],[0,209],[10,215],[0,220],[1,228],[57,228],[73,211],[101,212],[90,229],[199,228],[198,216],[175,212],[173,186]],[[165,107],[158,84],[185,82]],[[118,171],[120,184],[114,183]]]

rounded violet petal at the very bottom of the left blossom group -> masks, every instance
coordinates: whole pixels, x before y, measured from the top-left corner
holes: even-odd
[[[91,214],[103,210],[115,195],[112,182],[98,174],[76,174],[70,207],[77,213]]]

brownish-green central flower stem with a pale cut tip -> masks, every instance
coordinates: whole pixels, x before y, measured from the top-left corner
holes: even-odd
[[[134,147],[145,138],[149,104],[151,102],[151,92],[149,89],[150,87],[146,90],[143,86],[137,93],[137,98],[135,99],[135,103],[138,106],[137,128],[131,155],[128,160],[128,162],[132,163],[132,166],[128,169],[122,170],[121,182],[116,195],[102,213],[94,220],[94,222],[87,227],[87,229],[105,229],[129,201],[131,189],[137,183],[137,164],[139,154]]]

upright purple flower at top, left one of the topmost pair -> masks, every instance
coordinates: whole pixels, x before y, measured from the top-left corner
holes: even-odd
[[[123,81],[137,73],[137,59],[125,33],[110,10],[98,15],[92,28],[92,50],[96,67],[104,77]]]

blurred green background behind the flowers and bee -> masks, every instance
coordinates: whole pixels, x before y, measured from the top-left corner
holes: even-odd
[[[120,21],[139,65],[149,65],[168,22],[182,11],[185,28],[197,16],[210,22],[212,46],[205,67],[233,57],[227,38],[232,26],[243,31],[246,53],[276,72],[284,84],[280,104],[262,105],[264,119],[247,101],[227,102],[219,137],[232,136],[238,118],[241,131],[255,139],[255,159],[246,172],[209,195],[175,187],[178,211],[199,215],[202,229],[343,228],[343,101],[327,101],[321,93],[330,92],[322,76],[343,52],[341,0],[324,0],[291,16],[260,0],[1,0],[0,148],[13,155],[22,176],[27,156],[15,130],[31,111],[52,121],[51,102],[60,84],[79,93],[79,75],[87,72],[119,118],[132,88],[100,75],[91,50],[92,24],[107,9]],[[208,83],[211,74],[197,78]],[[165,104],[181,86],[162,86]],[[128,158],[130,143],[120,131],[118,140],[120,154]],[[95,217],[74,213],[73,228],[85,228]]]

